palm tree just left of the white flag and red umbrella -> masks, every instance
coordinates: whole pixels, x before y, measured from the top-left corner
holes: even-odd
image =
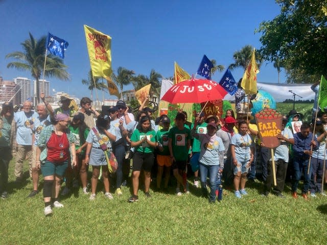
[[[151,70],[150,76],[138,75],[132,80],[135,91],[151,83],[150,93],[154,94],[157,98],[160,96],[161,82],[160,79],[162,76],[156,72],[154,69]]]

